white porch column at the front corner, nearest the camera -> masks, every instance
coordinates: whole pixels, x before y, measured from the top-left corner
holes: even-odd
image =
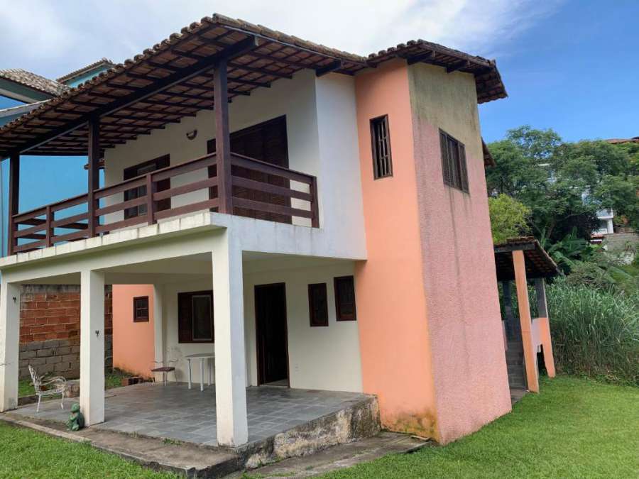
[[[246,356],[242,252],[234,233],[214,241],[215,403],[217,442],[241,446],[249,440],[246,418]]]

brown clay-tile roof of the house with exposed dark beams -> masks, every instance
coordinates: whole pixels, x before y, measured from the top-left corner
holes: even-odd
[[[417,40],[361,57],[214,15],[0,128],[0,158],[26,152],[86,155],[89,119],[100,119],[104,150],[213,109],[213,70],[222,58],[228,61],[232,99],[300,70],[355,75],[393,57],[472,73],[480,102],[506,96],[494,62],[442,45]]]

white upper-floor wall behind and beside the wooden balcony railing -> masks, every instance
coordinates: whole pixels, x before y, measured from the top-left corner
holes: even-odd
[[[339,244],[340,249],[365,255],[354,79],[337,74],[317,78],[314,72],[302,71],[293,79],[274,82],[270,89],[256,89],[250,97],[235,97],[229,105],[231,132],[282,115],[286,116],[290,169],[317,176],[320,228],[327,235],[325,246],[334,249]],[[197,138],[188,140],[186,133],[195,129]],[[207,140],[214,138],[214,130],[214,111],[200,111],[195,118],[182,119],[164,130],[107,150],[105,185],[121,182],[124,168],[161,155],[170,155],[170,165],[205,155]],[[174,178],[171,186],[199,180],[203,175],[204,170],[182,175]],[[293,187],[307,188],[299,184]],[[123,194],[114,195],[104,204],[123,199]],[[174,197],[172,206],[204,199],[207,192],[202,190]],[[307,202],[293,200],[292,206],[307,208]],[[107,215],[106,222],[123,218],[119,211]],[[310,226],[307,219],[293,221]]]

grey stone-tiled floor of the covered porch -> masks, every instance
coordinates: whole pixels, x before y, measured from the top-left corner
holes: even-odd
[[[249,442],[261,441],[366,398],[356,392],[296,390],[286,387],[249,387]],[[43,402],[13,411],[27,417],[66,421],[75,399]],[[105,422],[97,427],[119,432],[217,446],[215,387],[189,390],[185,383],[145,383],[108,390]]]

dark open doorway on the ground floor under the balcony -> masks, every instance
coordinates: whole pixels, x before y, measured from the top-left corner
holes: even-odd
[[[284,283],[255,287],[258,384],[288,380],[286,287]]]

